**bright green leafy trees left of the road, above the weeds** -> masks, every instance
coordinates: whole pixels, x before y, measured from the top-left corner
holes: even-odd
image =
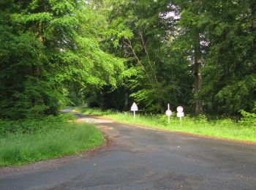
[[[57,114],[108,84],[120,59],[103,52],[105,20],[83,1],[0,1],[0,116]]]

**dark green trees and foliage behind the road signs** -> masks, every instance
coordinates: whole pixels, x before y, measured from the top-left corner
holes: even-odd
[[[255,1],[94,3],[110,23],[105,48],[127,58],[120,89],[130,94],[129,102],[150,112],[165,110],[167,103],[191,113],[255,112]],[[120,107],[105,101],[109,94],[116,99],[116,91],[108,91],[97,100]],[[119,99],[127,102],[127,96]]]

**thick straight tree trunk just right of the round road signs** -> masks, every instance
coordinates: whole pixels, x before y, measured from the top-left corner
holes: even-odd
[[[202,88],[202,75],[201,70],[201,53],[200,53],[200,36],[199,32],[195,35],[195,45],[194,45],[194,78],[195,78],[195,91],[194,96],[196,98],[195,102],[195,114],[199,115],[203,113],[202,100],[198,97],[198,93]]]

